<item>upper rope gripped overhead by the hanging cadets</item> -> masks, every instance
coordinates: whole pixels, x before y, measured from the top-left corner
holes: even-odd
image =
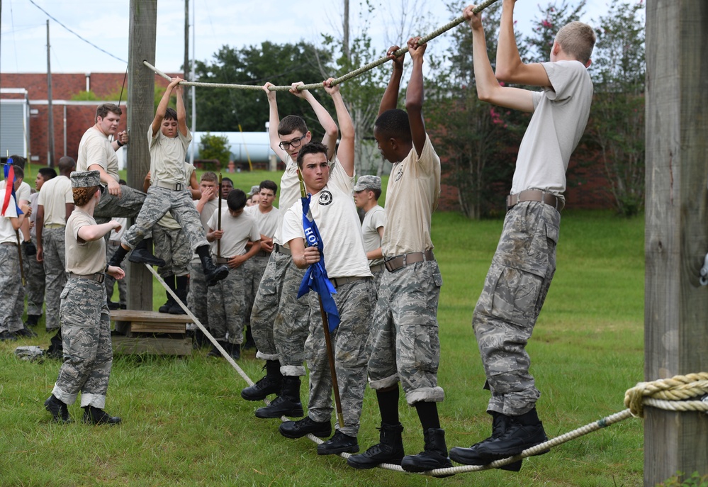
[[[486,9],[488,6],[491,4],[495,3],[497,0],[485,0],[478,6],[474,8],[474,13],[480,13],[484,9]],[[458,18],[454,19],[454,21],[450,21],[449,23],[446,23],[444,26],[437,28],[436,30],[433,30],[431,33],[428,35],[424,35],[420,40],[418,40],[418,44],[425,44],[429,40],[433,40],[434,38],[437,38],[437,36],[446,33],[448,30],[451,28],[454,28],[456,26],[459,26],[461,23],[465,21],[464,16],[459,16]],[[408,47],[401,47],[399,50],[395,51],[393,53],[394,57],[398,57],[400,55],[405,54],[408,52]],[[370,62],[368,65],[362,66],[359,69],[354,69],[354,71],[349,72],[347,74],[344,74],[342,77],[335,78],[335,81],[332,82],[332,86],[335,86],[337,84],[340,84],[342,82],[347,81],[347,79],[352,79],[354,77],[359,76],[359,74],[362,74],[364,72],[370,71],[371,69],[383,65],[383,63],[390,61],[391,58],[389,56],[384,56],[381,57],[380,59]],[[169,77],[167,74],[164,74],[164,72],[160,71],[157,69],[157,67],[154,67],[153,65],[150,64],[150,62],[147,62],[146,60],[142,61],[142,64],[149,67],[154,71],[155,73],[159,74],[162,76],[164,79],[172,79]],[[179,84],[182,84],[184,86],[203,86],[203,87],[208,87],[208,88],[230,88],[230,89],[251,89],[251,90],[260,90],[263,89],[262,86],[259,85],[253,85],[253,84],[229,84],[229,83],[203,83],[203,82],[180,82]],[[305,89],[315,89],[315,88],[322,88],[325,86],[322,82],[320,83],[310,83],[310,84],[300,84],[298,85],[298,90],[303,91]],[[292,89],[292,86],[269,86],[268,88],[270,91],[290,91]]]

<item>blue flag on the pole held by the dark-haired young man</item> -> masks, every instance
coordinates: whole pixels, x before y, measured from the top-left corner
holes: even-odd
[[[320,262],[315,262],[305,271],[303,281],[300,283],[298,298],[310,292],[310,289],[320,295],[322,308],[327,313],[327,323],[330,325],[330,332],[334,331],[339,326],[339,311],[337,303],[332,298],[332,294],[336,294],[335,286],[332,286],[330,279],[327,277],[327,269],[325,269],[325,254],[323,253],[325,245],[322,243],[320,230],[317,228],[315,220],[310,220],[310,198],[311,194],[303,197],[303,230],[305,230],[305,245],[308,247],[317,247],[320,251]]]

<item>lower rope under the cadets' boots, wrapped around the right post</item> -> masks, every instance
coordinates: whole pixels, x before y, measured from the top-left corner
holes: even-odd
[[[247,376],[245,371],[241,369],[240,366],[235,362],[234,359],[226,352],[221,345],[215,340],[215,338],[208,332],[204,325],[196,318],[195,315],[185,306],[185,304],[177,297],[177,295],[169,289],[162,277],[157,274],[157,272],[152,269],[152,266],[145,264],[152,275],[155,276],[157,281],[162,284],[164,290],[167,291],[174,301],[179,304],[179,306],[184,310],[185,313],[193,320],[197,327],[204,333],[210,342],[219,350],[219,352],[224,356],[224,358],[231,364],[231,366],[237,371],[237,373],[246,381],[249,386],[252,386],[254,382]],[[423,475],[429,475],[434,477],[444,477],[452,474],[462,474],[464,472],[472,471],[482,471],[488,469],[498,469],[500,466],[514,463],[521,459],[527,457],[533,457],[546,452],[546,450],[557,447],[563,443],[567,443],[575,438],[581,437],[583,435],[588,435],[588,433],[600,430],[609,425],[614,425],[616,422],[626,420],[631,417],[644,417],[644,405],[651,406],[653,408],[660,408],[670,411],[702,411],[708,413],[708,402],[705,401],[687,401],[687,399],[695,397],[703,397],[708,395],[708,372],[699,372],[697,374],[687,374],[685,376],[673,376],[671,379],[660,379],[653,382],[640,382],[633,388],[629,389],[624,393],[624,405],[627,409],[615,413],[613,415],[606,416],[600,420],[590,422],[585,426],[581,426],[576,430],[567,432],[561,436],[552,438],[547,442],[537,444],[534,447],[525,449],[520,454],[515,457],[509,457],[505,459],[500,459],[491,462],[487,465],[461,465],[454,466],[448,469],[435,469],[427,472],[423,472]],[[264,401],[266,404],[269,401]],[[285,416],[281,417],[281,421],[290,421],[289,418]],[[307,435],[307,437],[317,444],[321,444],[325,440],[322,440],[314,435]],[[340,453],[339,457],[347,459],[352,454]],[[399,471],[406,474],[410,474],[403,470],[400,465],[395,464],[380,464],[378,468],[392,471]]]

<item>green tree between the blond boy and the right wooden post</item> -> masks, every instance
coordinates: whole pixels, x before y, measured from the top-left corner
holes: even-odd
[[[588,129],[599,147],[617,211],[644,208],[644,2],[614,0],[600,18]]]

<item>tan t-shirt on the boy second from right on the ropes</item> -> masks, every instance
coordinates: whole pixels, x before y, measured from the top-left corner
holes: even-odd
[[[413,146],[403,161],[393,164],[388,177],[381,239],[384,257],[433,248],[430,221],[439,198],[440,158],[426,135],[420,156]]]

